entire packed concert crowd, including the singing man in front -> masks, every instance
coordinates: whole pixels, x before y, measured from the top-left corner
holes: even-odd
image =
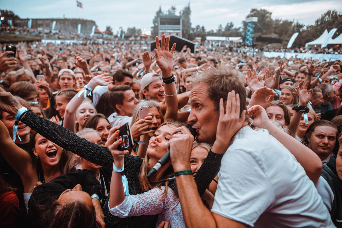
[[[156,44],[0,44],[1,227],[342,227],[340,61]]]

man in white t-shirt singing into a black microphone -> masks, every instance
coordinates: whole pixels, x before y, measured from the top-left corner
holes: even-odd
[[[240,115],[246,110],[243,83],[241,74],[230,69],[212,69],[194,78],[188,121],[194,123],[197,142],[214,144],[212,152],[223,153],[220,145],[229,147],[221,161],[211,212],[203,205],[192,175],[175,175],[186,226],[334,227],[303,167],[267,130],[251,129],[245,116],[230,143],[231,136],[216,138],[221,98],[227,100],[228,92],[234,90],[240,97]],[[235,100],[235,93],[231,96]],[[191,150],[183,146],[189,141],[185,140],[188,130],[182,127],[176,132],[182,135],[170,140],[175,174],[190,170]]]

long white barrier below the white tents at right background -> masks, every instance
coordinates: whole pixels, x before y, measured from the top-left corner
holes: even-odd
[[[291,53],[291,52],[263,52],[263,56],[267,58],[277,57],[280,56],[281,58],[287,58],[295,57],[297,55],[297,58],[311,58],[311,59],[318,59],[319,61],[322,61],[325,59],[326,61],[336,61],[340,60],[342,61],[342,55],[336,55],[336,54],[312,54],[312,53]]]

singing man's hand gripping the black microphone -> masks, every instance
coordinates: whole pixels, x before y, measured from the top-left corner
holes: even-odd
[[[190,169],[190,153],[194,142],[194,136],[182,126],[176,128],[173,137],[170,139],[171,164],[175,172]]]

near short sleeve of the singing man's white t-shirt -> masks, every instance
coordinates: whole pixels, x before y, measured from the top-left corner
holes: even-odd
[[[211,211],[254,226],[274,199],[275,193],[264,172],[261,158],[243,150],[228,149],[221,161],[220,178]]]

